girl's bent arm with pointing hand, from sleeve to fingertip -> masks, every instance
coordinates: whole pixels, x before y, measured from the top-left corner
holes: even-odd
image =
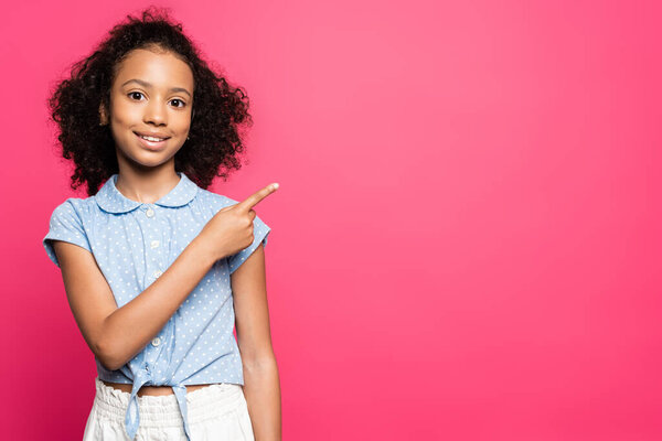
[[[53,241],[76,324],[107,369],[119,369],[142,351],[216,260],[253,243],[252,207],[275,190],[269,185],[222,208],[157,280],[121,308],[92,252]]]

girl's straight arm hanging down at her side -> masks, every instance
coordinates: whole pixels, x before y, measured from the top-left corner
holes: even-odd
[[[232,273],[231,281],[244,365],[244,395],[255,438],[280,441],[280,384],[269,332],[263,245]]]

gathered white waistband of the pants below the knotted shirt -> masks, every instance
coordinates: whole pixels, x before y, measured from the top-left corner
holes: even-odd
[[[99,415],[124,420],[131,394],[115,389],[95,378],[94,406]],[[212,384],[185,395],[189,424],[232,411],[241,402],[244,391],[241,385]],[[135,397],[138,400],[141,427],[181,427],[184,422],[174,395]]]

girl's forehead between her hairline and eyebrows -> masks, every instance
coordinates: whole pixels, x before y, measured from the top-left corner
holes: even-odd
[[[172,52],[145,49],[129,52],[116,66],[114,86],[129,79],[142,79],[153,87],[180,86],[193,89],[193,72]]]

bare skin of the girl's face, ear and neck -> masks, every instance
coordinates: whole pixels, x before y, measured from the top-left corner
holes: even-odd
[[[193,73],[170,53],[136,50],[118,66],[109,122],[119,164],[116,186],[128,198],[153,203],[179,182],[174,154],[189,136],[192,95]],[[104,107],[99,114],[108,122]],[[160,132],[170,139],[162,150],[152,151],[141,146],[136,132]]]

